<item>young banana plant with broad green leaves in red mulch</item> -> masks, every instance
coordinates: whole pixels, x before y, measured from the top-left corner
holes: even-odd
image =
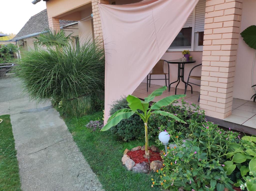
[[[122,119],[127,119],[133,114],[139,115],[145,125],[145,158],[149,158],[147,125],[150,115],[160,114],[173,118],[178,122],[186,123],[176,117],[174,114],[160,110],[163,106],[167,106],[173,101],[185,97],[186,95],[184,94],[165,97],[156,103],[153,103],[153,105],[151,105],[149,108],[149,102],[151,102],[156,96],[161,96],[166,89],[166,86],[156,89],[148,97],[144,98],[144,101],[132,95],[127,96],[126,100],[130,109],[121,109],[116,111],[113,115],[110,116],[106,125],[101,129],[101,131],[110,129],[111,127],[117,125]],[[138,110],[142,111],[143,113],[140,113]]]

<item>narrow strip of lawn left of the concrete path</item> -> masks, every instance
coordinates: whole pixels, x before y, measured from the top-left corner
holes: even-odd
[[[10,115],[0,119],[0,190],[21,190]]]

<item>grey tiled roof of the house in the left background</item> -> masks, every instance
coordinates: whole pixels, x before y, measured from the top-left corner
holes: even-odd
[[[65,26],[76,21],[60,20],[60,26]],[[36,15],[30,17],[22,29],[13,39],[18,39],[29,34],[34,34],[44,31],[44,29],[49,28],[47,9],[42,10]]]

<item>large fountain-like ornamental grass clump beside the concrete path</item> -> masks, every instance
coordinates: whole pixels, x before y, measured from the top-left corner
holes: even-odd
[[[47,49],[24,52],[16,66],[24,90],[37,102],[62,102],[66,115],[81,116],[102,108],[104,93],[104,50],[91,39],[79,49],[70,43],[55,43]]]

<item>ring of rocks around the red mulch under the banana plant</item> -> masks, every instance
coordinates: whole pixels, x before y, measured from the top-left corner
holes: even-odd
[[[136,151],[136,150],[145,150],[145,145],[144,146],[137,146],[131,149],[131,151]],[[159,152],[158,147],[152,145],[151,147],[149,147],[149,149],[151,149],[154,152]],[[150,163],[150,165],[147,162],[142,162],[142,163],[137,163],[135,165],[135,162],[130,159],[130,157],[127,155],[127,153],[129,152],[129,149],[125,149],[124,150],[124,154],[123,157],[121,159],[122,164],[126,167],[127,170],[129,171],[133,171],[135,173],[148,173],[150,171],[156,172],[156,170],[159,170],[161,168],[164,167],[163,162],[159,161],[159,160],[155,160],[152,161]],[[161,151],[160,151],[161,153]]]

